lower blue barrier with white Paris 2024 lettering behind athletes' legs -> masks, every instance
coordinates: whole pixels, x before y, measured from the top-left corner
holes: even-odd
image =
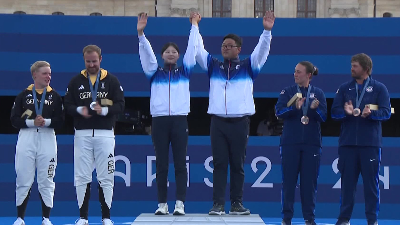
[[[0,216],[16,215],[14,156],[17,135],[0,135]],[[79,213],[73,185],[73,136],[58,135],[54,216],[77,216]],[[316,216],[336,218],[340,199],[340,173],[337,170],[336,137],[324,137],[321,170],[318,178]],[[400,140],[384,138],[380,167],[380,219],[400,219]],[[280,217],[281,171],[279,137],[250,137],[244,165],[244,204],[262,217]],[[188,188],[185,211],[208,213],[212,207],[212,158],[209,137],[191,136],[188,146]],[[154,213],[157,207],[154,150],[150,136],[117,136],[116,183],[112,205],[114,216],[137,216]],[[175,181],[170,154],[168,203],[174,206]],[[93,176],[89,215],[100,215],[96,175]],[[228,177],[229,181],[229,177]],[[362,178],[359,179],[354,218],[364,218]],[[229,188],[226,191],[229,199]],[[229,200],[228,200],[229,201]],[[226,205],[229,210],[229,206]],[[172,210],[172,209],[170,209]],[[32,187],[27,215],[41,215],[37,183]],[[295,217],[302,217],[300,193],[296,189]]]

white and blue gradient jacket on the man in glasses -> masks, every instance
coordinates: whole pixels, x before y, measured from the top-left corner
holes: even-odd
[[[208,71],[210,77],[210,103],[208,114],[220,117],[243,117],[256,112],[253,98],[253,82],[270,52],[271,31],[262,32],[250,57],[221,62],[205,49],[199,36],[196,61]]]

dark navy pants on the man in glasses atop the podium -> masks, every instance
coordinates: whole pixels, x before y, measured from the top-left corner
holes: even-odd
[[[243,202],[244,159],[250,132],[247,116],[224,118],[213,115],[210,126],[214,172],[212,174],[214,203],[225,205],[225,189],[230,168],[231,203]]]

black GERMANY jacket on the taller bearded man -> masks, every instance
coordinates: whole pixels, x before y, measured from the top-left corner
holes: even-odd
[[[80,74],[74,76],[68,84],[64,97],[64,110],[66,114],[74,117],[74,127],[76,130],[112,130],[115,126],[116,115],[122,113],[125,108],[124,90],[118,78],[107,70],[100,69],[100,79],[98,84],[96,101],[101,99],[112,100],[112,105],[108,107],[108,113],[105,116],[98,115],[96,111],[90,108],[92,103],[92,92],[90,91],[91,83],[86,76],[86,70],[82,70]],[[92,85],[93,89],[95,85]],[[86,119],[77,111],[78,106],[86,106],[89,115],[92,117]],[[105,106],[105,105],[102,105]]]

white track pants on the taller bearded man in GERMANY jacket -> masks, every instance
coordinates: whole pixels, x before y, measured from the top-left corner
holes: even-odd
[[[107,206],[111,209],[115,170],[114,147],[113,137],[75,137],[74,177],[79,208],[82,207],[86,186],[92,182],[92,173],[96,168],[96,178],[103,189]]]

